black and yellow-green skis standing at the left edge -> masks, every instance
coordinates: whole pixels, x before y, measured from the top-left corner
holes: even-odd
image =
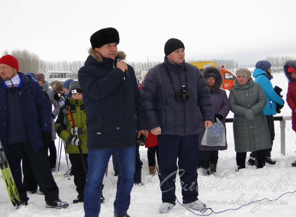
[[[4,153],[4,148],[0,141],[0,169],[5,182],[5,186],[7,188],[8,195],[10,200],[14,206],[21,205],[20,196],[17,192],[17,188],[15,186],[15,181],[13,180],[11,170],[9,168],[9,164]]]

